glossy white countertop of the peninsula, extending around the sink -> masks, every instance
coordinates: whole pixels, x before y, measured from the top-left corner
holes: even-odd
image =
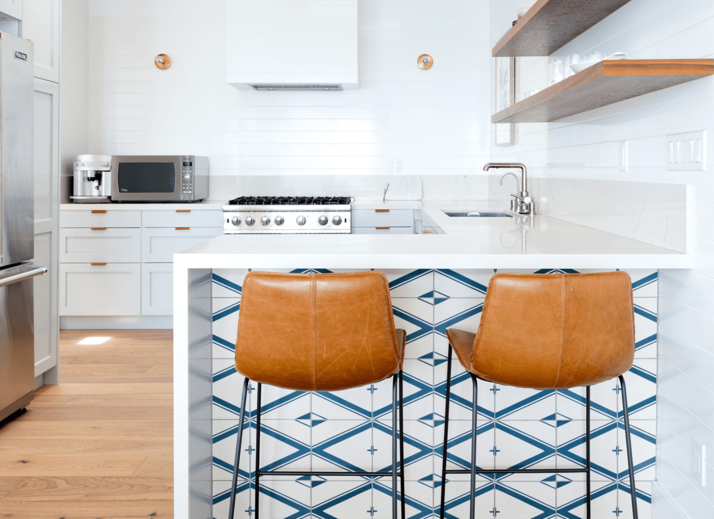
[[[376,205],[378,203],[378,205]],[[222,235],[174,255],[174,268],[690,268],[692,257],[535,215],[451,218],[442,210],[500,209],[493,201],[358,201],[419,208],[443,234]]]

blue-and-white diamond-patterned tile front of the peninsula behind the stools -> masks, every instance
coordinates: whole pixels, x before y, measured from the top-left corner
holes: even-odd
[[[247,270],[213,272],[213,517],[226,518],[242,378],[233,368],[241,286]],[[296,269],[292,272],[329,272]],[[407,516],[438,517],[446,395],[446,329],[475,332],[493,270],[387,270],[396,326],[407,331],[404,429]],[[523,271],[522,271],[523,272]],[[575,272],[544,269],[538,273]],[[585,272],[585,271],[583,271]],[[635,366],[625,374],[632,418],[640,518],[648,519],[655,479],[657,271],[628,271],[635,296]],[[456,359],[451,374],[449,468],[468,468],[471,381]],[[630,516],[618,381],[591,389],[593,517]],[[255,515],[256,384],[251,383],[238,477],[236,518]],[[261,467],[390,470],[391,381],[334,393],[263,386]],[[481,383],[480,468],[573,468],[585,463],[585,388],[528,390]],[[479,476],[477,516],[584,516],[585,475]],[[468,515],[468,475],[453,475],[446,516]],[[391,517],[391,478],[261,478],[261,515],[269,518]]]

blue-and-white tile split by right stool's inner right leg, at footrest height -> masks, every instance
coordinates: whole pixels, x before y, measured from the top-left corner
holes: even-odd
[[[555,430],[557,468],[585,467],[585,420],[560,422]],[[618,472],[618,423],[615,420],[590,421],[590,465],[593,480],[615,480]],[[585,473],[570,473],[570,480],[585,480]]]

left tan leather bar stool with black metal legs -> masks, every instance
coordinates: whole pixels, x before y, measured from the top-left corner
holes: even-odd
[[[280,311],[278,311],[280,308]],[[256,503],[261,475],[392,477],[392,517],[397,517],[397,477],[405,515],[402,366],[406,331],[394,328],[389,284],[378,271],[293,274],[250,272],[238,312],[236,371],[245,376],[238,418],[229,518],[236,506],[248,381],[258,383],[256,403]],[[392,466],[381,472],[260,470],[263,383],[302,391],[356,388],[392,377]],[[398,396],[397,396],[397,388]],[[397,428],[399,410],[399,428]],[[400,443],[397,469],[397,439]],[[271,518],[276,519],[276,518]]]

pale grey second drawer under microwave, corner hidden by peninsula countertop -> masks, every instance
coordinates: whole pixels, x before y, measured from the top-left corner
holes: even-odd
[[[141,261],[173,263],[174,253],[223,233],[223,227],[141,229]]]

